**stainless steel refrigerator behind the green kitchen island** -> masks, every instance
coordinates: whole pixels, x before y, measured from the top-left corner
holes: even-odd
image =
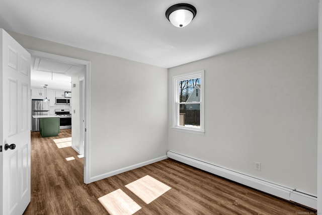
[[[35,115],[48,115],[49,99],[32,99],[31,100],[31,131],[39,131],[39,118]]]

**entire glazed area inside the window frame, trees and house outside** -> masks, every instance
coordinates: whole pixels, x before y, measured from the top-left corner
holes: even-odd
[[[200,127],[200,78],[179,81],[179,125]]]

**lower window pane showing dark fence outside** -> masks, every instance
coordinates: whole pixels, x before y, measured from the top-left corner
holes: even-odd
[[[200,127],[200,104],[181,104],[179,125]]]

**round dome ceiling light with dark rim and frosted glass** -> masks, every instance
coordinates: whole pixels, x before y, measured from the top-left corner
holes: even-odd
[[[178,28],[187,26],[195,18],[196,14],[196,8],[185,3],[173,5],[166,11],[167,19]]]

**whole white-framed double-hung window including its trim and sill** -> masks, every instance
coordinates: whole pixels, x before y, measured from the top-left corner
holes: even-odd
[[[172,127],[204,133],[204,70],[173,77]]]

